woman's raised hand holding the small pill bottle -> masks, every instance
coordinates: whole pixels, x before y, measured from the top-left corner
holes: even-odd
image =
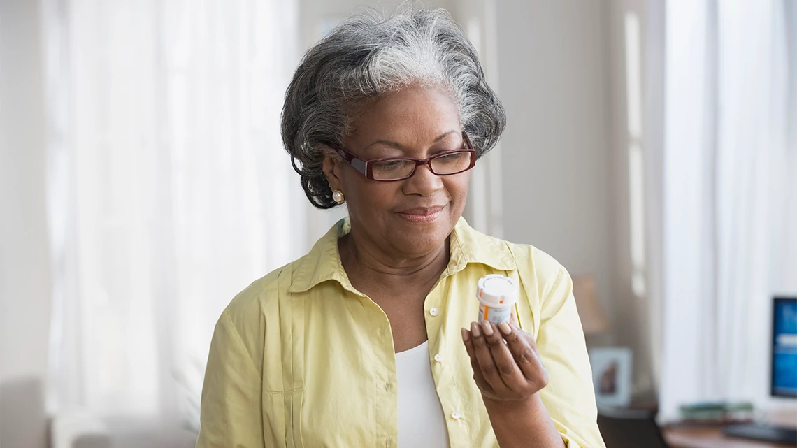
[[[462,328],[462,341],[485,401],[524,402],[548,384],[534,337],[520,328],[473,322],[470,330]]]

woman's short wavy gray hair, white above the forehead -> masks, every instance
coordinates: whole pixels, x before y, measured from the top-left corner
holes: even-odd
[[[409,9],[387,18],[357,13],[304,54],[285,93],[282,142],[312,205],[337,205],[321,170],[325,148],[343,146],[358,108],[414,84],[453,95],[479,157],[495,146],[504,107],[446,10]]]

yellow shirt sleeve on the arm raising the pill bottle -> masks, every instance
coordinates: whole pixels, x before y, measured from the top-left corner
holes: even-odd
[[[570,275],[560,265],[540,309],[536,344],[549,374],[540,398],[568,448],[605,448],[587,344],[572,289]]]

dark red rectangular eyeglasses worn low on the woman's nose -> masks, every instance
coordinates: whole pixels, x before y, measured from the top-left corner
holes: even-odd
[[[476,151],[473,150],[473,145],[470,144],[465,132],[462,132],[462,140],[465,143],[464,149],[441,152],[427,159],[388,157],[365,160],[343,149],[336,151],[367,179],[391,182],[409,179],[420,165],[429,165],[429,169],[436,175],[456,175],[468,171],[476,166]]]

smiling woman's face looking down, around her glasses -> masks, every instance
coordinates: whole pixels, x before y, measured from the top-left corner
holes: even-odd
[[[426,159],[464,147],[457,104],[438,88],[411,87],[380,97],[360,111],[353,129],[344,149],[364,160]],[[398,257],[442,246],[462,214],[470,181],[469,171],[438,176],[422,165],[409,179],[377,182],[332,157],[324,161],[324,172],[332,190],[345,195],[358,243]]]

